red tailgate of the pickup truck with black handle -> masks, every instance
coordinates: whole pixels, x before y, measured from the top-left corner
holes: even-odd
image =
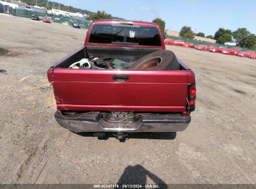
[[[187,71],[83,70],[55,68],[57,108],[68,111],[182,112]],[[126,78],[116,81],[115,76]]]

